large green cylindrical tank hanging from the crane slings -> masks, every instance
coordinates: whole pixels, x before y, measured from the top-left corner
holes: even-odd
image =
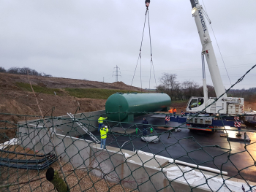
[[[169,106],[170,96],[165,93],[115,93],[108,97],[105,110],[110,120],[131,122],[133,115],[142,113],[129,112],[157,112]]]

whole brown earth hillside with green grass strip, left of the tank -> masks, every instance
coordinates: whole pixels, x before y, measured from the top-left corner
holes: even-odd
[[[38,76],[30,76],[30,80],[38,94],[39,106],[46,116],[51,113],[53,116],[66,115],[67,112],[75,113],[78,106],[78,112],[105,110],[105,101],[111,94],[140,91],[140,88],[126,85],[124,82],[106,83]],[[40,115],[27,75],[0,73],[0,112],[16,114],[0,115],[0,120],[12,123],[25,120],[19,115]],[[5,126],[10,128],[11,125],[0,122],[1,128]],[[8,137],[13,137],[14,131],[0,131],[4,131]]]

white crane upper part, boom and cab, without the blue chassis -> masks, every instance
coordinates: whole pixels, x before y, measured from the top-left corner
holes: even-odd
[[[208,33],[206,21],[204,19],[203,7],[199,4],[198,0],[190,0],[192,5],[192,16],[195,18],[197,31],[202,44],[202,69],[203,69],[203,97],[195,97],[189,99],[187,105],[187,112],[206,112],[208,114],[226,114],[226,115],[239,115],[244,110],[244,98],[227,97],[222,78],[219,73],[214,48],[211,44],[211,38]],[[206,71],[205,62],[206,58],[208,69],[211,74],[211,80],[214,84],[214,90],[219,100],[214,103],[214,99],[208,99],[208,90],[206,87]],[[223,94],[224,93],[224,94]],[[205,111],[203,109],[210,105]]]

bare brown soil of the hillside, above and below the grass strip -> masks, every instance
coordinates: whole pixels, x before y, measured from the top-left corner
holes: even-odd
[[[30,76],[32,85],[39,85],[47,88],[105,88],[140,91],[140,88],[129,86],[124,82],[96,82],[89,80],[74,80],[58,77],[38,77]],[[0,112],[19,115],[40,115],[34,94],[28,91],[23,91],[16,82],[29,83],[27,75],[23,74],[0,74]],[[78,106],[80,112],[90,112],[94,110],[105,109],[105,99],[86,99],[75,98],[73,96],[55,96],[39,93],[40,107],[43,113],[54,116],[66,115],[67,112],[75,112]],[[53,110],[51,110],[53,109]],[[1,120],[10,120],[16,123],[21,120],[19,116],[1,115]]]

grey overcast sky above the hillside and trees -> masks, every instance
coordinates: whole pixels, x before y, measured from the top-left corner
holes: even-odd
[[[256,1],[200,0],[205,4],[232,83],[256,64]],[[130,85],[137,64],[146,7],[144,0],[0,0],[0,66],[28,66],[37,72]],[[189,0],[151,0],[154,70],[178,81],[202,85],[202,46]],[[229,88],[217,42],[207,23],[225,88]],[[149,87],[148,26],[142,47],[142,86]],[[207,83],[212,85],[206,68]],[[153,73],[151,88],[155,87]],[[140,87],[140,66],[132,85]],[[253,69],[235,88],[256,87]]]

